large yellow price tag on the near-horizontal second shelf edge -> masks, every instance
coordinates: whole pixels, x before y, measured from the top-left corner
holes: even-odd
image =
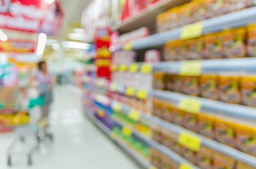
[[[198,76],[202,72],[202,62],[198,60],[184,61],[181,64],[180,74],[188,76]]]

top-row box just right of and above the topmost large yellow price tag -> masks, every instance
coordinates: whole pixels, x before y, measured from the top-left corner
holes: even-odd
[[[224,14],[224,1],[223,0],[206,0],[206,17],[212,18]]]

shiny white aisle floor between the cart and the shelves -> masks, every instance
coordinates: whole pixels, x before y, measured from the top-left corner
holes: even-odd
[[[73,86],[55,89],[51,114],[54,143],[35,155],[33,166],[27,166],[26,158],[18,158],[12,169],[139,169],[82,115],[80,97],[81,91]],[[13,137],[0,135],[0,169],[9,169],[6,147]]]

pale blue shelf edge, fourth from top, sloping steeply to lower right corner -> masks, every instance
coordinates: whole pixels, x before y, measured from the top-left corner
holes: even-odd
[[[223,153],[224,155],[227,155],[229,157],[232,157],[236,160],[239,160],[241,162],[244,162],[250,166],[253,166],[253,167],[256,167],[256,158],[253,157],[253,156],[250,156],[250,155],[247,155],[243,152],[240,152],[236,149],[233,149],[229,146],[225,146],[224,144],[221,144],[221,143],[218,143],[214,140],[211,140],[207,137],[204,137],[202,135],[199,135],[199,134],[196,134],[190,130],[187,130],[187,129],[184,129],[180,126],[177,126],[175,124],[172,124],[172,123],[168,123],[164,120],[161,120],[157,117],[147,117],[148,120],[150,120],[151,122],[153,123],[157,123],[158,125],[162,126],[162,127],[165,127],[166,129],[169,129],[177,134],[180,134],[181,132],[191,132],[193,133],[194,135],[198,136],[201,138],[201,144],[204,145],[204,146],[207,146],[211,149],[215,149],[217,150],[218,152],[221,152]]]

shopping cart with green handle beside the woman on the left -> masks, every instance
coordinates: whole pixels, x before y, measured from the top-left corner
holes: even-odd
[[[7,126],[14,127],[15,132],[17,133],[15,139],[7,149],[8,166],[12,166],[13,155],[16,154],[22,154],[23,156],[25,154],[27,157],[27,163],[31,166],[32,156],[35,154],[36,150],[38,150],[41,143],[47,140],[53,140],[53,135],[49,130],[48,120],[49,107],[52,102],[52,92],[44,90],[44,92],[41,92],[40,94],[38,94],[38,92],[35,93],[33,95],[38,95],[38,97],[29,99],[26,111],[24,111],[24,108],[20,108],[15,115],[11,114],[9,115],[9,119],[5,118],[1,121]],[[24,100],[21,101],[24,102]],[[29,140],[34,141],[31,144]],[[26,142],[29,142],[29,147],[26,147],[26,152],[20,153],[20,150],[18,152],[15,151],[17,147],[22,149],[22,146],[25,146]]]

